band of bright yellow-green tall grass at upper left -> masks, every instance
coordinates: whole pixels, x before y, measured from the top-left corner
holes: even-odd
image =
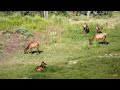
[[[49,20],[38,15],[22,16],[18,12],[9,16],[0,15],[0,30],[10,30],[22,26],[28,30],[35,31],[43,30],[50,24],[51,22],[49,22]]]

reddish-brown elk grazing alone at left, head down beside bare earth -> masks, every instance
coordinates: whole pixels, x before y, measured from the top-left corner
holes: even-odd
[[[28,46],[24,49],[24,53],[26,54],[29,49],[32,53],[33,48],[37,48],[37,51],[39,52],[39,43],[37,41],[30,42]]]

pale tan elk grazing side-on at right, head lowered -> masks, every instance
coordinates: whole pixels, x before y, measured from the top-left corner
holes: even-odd
[[[106,33],[96,33],[91,39],[89,39],[89,45],[92,44],[93,41],[103,40],[103,43],[106,42]]]

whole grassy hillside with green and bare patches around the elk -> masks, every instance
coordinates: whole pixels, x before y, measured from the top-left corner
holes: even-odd
[[[114,79],[120,78],[120,14],[111,18],[80,16],[74,18],[19,14],[0,16],[0,78],[1,79]],[[90,33],[83,34],[87,22]],[[100,24],[107,33],[108,45],[88,45],[88,39]],[[18,33],[15,33],[18,32]],[[40,42],[40,54],[24,54],[27,43]],[[34,49],[36,50],[36,49]],[[41,72],[35,68],[45,61]],[[75,62],[75,63],[70,63]]]

